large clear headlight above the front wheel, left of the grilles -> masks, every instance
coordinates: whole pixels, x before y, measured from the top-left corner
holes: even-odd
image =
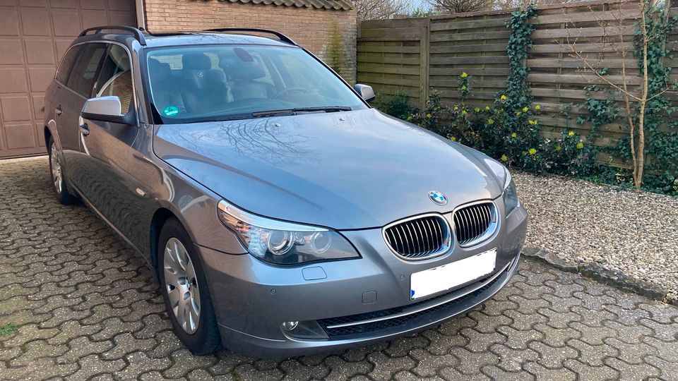
[[[298,265],[360,256],[336,231],[264,218],[224,200],[218,206],[221,222],[237,234],[251,255],[266,262]]]

